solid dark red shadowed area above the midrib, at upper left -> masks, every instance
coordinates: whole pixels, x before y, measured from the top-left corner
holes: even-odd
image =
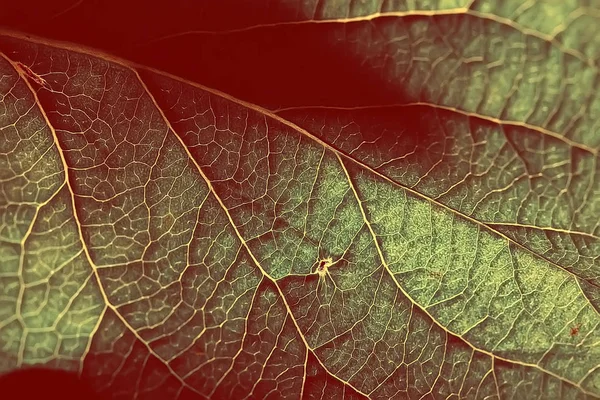
[[[414,100],[382,77],[390,60],[360,57],[380,40],[376,29],[286,24],[312,17],[275,4],[110,0],[98,7],[71,0],[41,3],[25,15],[17,2],[2,10],[0,25],[102,49],[272,108]],[[247,27],[255,28],[226,32]]]

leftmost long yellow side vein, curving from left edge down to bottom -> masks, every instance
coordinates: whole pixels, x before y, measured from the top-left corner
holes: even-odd
[[[0,53],[3,54],[3,53]],[[8,57],[6,55],[3,54],[4,57],[6,57],[8,59]],[[10,60],[10,59],[9,59]],[[11,64],[13,64],[14,66],[14,62],[12,62],[11,60]],[[15,70],[18,72],[18,69],[15,68]],[[20,75],[20,74],[19,74]],[[112,305],[109,301],[108,301],[108,296],[106,295],[106,291],[104,290],[104,286],[102,285],[102,280],[100,279],[100,276],[98,274],[98,268],[96,267],[96,265],[94,264],[94,261],[92,260],[92,257],[90,255],[89,249],[87,248],[87,245],[85,243],[85,240],[83,238],[83,230],[82,230],[82,226],[81,223],[79,222],[79,218],[78,218],[78,212],[77,212],[77,207],[75,205],[75,191],[73,190],[73,187],[71,185],[71,182],[68,178],[69,176],[69,169],[68,169],[68,165],[67,165],[67,161],[65,159],[64,153],[62,152],[62,148],[60,146],[60,143],[58,141],[58,135],[56,134],[56,130],[54,129],[54,126],[51,124],[50,119],[48,118],[48,115],[46,114],[46,110],[44,110],[44,108],[41,106],[40,100],[38,98],[37,92],[35,91],[35,89],[31,86],[31,84],[29,83],[29,81],[27,79],[21,78],[23,79],[23,81],[25,82],[25,84],[28,86],[31,95],[33,96],[33,98],[35,99],[35,103],[38,106],[38,109],[40,110],[40,113],[42,114],[44,121],[46,122],[46,125],[50,128],[50,131],[52,132],[52,139],[54,141],[54,146],[56,146],[56,149],[58,151],[58,154],[60,156],[60,160],[62,163],[62,167],[65,171],[65,181],[66,181],[66,186],[69,189],[69,193],[70,193],[70,198],[71,198],[71,207],[73,209],[73,220],[75,221],[75,225],[77,226],[77,234],[79,236],[79,240],[81,241],[81,247],[83,249],[83,252],[85,254],[85,257],[90,265],[90,267],[92,268],[92,271],[94,273],[94,277],[96,278],[96,281],[98,283],[98,288],[100,290],[100,295],[102,296],[102,298],[104,299],[104,303],[106,304],[106,306],[108,306],[117,316],[117,318],[119,318],[119,320],[121,320],[121,322],[123,323],[123,325],[125,325],[125,327],[127,329],[129,329],[131,331],[131,333],[136,337],[136,339],[138,339],[140,341],[140,343],[143,343],[144,346],[146,347],[146,349],[148,350],[148,352],[153,355],[154,357],[156,357],[156,359],[161,360],[163,362],[163,364],[165,365],[165,367],[169,370],[169,372],[184,386],[189,387],[190,390],[192,390],[195,393],[201,394],[200,392],[198,392],[196,389],[194,389],[193,387],[189,386],[185,381],[183,381],[176,373],[175,371],[171,368],[171,366],[169,365],[169,363],[165,362],[155,351],[154,349],[152,349],[152,347],[150,347],[148,345],[148,343],[142,339],[142,337],[137,333],[137,331],[127,322],[127,320],[118,312],[117,308]]]

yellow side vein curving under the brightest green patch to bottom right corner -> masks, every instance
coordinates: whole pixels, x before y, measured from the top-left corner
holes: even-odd
[[[507,363],[510,364],[517,364],[517,365],[522,365],[522,366],[526,366],[526,367],[531,367],[534,369],[538,369],[541,372],[544,372],[550,376],[553,376],[554,378],[563,381],[563,382],[567,382],[575,387],[577,387],[579,390],[581,390],[582,392],[590,395],[590,396],[597,396],[594,393],[588,392],[587,390],[585,390],[584,388],[582,388],[581,386],[579,386],[579,384],[577,384],[576,382],[573,382],[567,378],[561,377],[560,375],[547,370],[537,364],[532,364],[532,363],[526,363],[526,362],[522,362],[522,361],[516,361],[516,360],[511,360],[508,358],[504,358],[501,356],[498,356],[492,352],[489,352],[487,350],[481,349],[479,347],[476,347],[475,345],[473,345],[472,343],[470,343],[468,340],[466,340],[465,338],[462,337],[462,335],[458,334],[458,333],[454,333],[454,332],[450,332],[448,329],[446,329],[429,311],[427,311],[426,308],[421,307],[421,305],[419,303],[417,303],[417,301],[415,299],[413,299],[411,297],[411,295],[404,290],[404,287],[400,284],[400,282],[398,282],[398,279],[396,279],[396,276],[394,275],[394,273],[391,271],[389,265],[387,264],[387,261],[385,260],[385,257],[383,256],[383,251],[381,250],[381,246],[379,246],[379,242],[377,241],[377,235],[375,234],[375,231],[373,230],[373,227],[371,226],[371,224],[369,223],[369,220],[367,218],[367,215],[365,213],[364,207],[362,205],[362,200],[360,199],[358,192],[356,191],[356,187],[354,186],[354,183],[352,182],[352,178],[350,177],[350,174],[348,173],[348,170],[346,168],[346,165],[344,164],[344,162],[342,161],[342,158],[340,156],[340,154],[336,153],[336,157],[340,163],[340,165],[342,166],[342,169],[344,170],[344,173],[346,174],[346,178],[348,180],[348,184],[350,185],[350,188],[352,189],[352,192],[354,193],[354,197],[356,198],[356,202],[358,203],[358,207],[360,208],[360,212],[362,214],[363,217],[363,222],[365,223],[365,225],[367,226],[367,228],[369,229],[369,232],[371,232],[371,237],[373,239],[373,243],[375,244],[375,247],[377,249],[377,253],[379,254],[379,258],[381,260],[381,263],[383,264],[384,268],[386,269],[386,271],[389,273],[390,277],[392,278],[392,280],[394,281],[394,283],[396,284],[396,286],[400,289],[400,291],[404,294],[404,296],[406,296],[407,299],[410,300],[410,302],[414,305],[416,305],[416,307],[419,308],[419,310],[421,310],[424,314],[426,314],[438,327],[440,327],[441,329],[443,329],[444,331],[451,333],[452,335],[458,336],[459,338],[462,339],[463,342],[465,342],[468,346],[470,346],[473,350],[478,351],[480,353],[483,353],[489,357],[491,357],[492,360],[494,360],[495,358],[498,360],[502,360],[505,361]]]

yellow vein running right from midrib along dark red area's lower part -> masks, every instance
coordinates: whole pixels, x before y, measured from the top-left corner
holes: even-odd
[[[552,131],[550,129],[544,128],[542,126],[533,125],[527,122],[517,121],[517,120],[504,120],[498,117],[492,117],[489,115],[480,114],[476,111],[467,111],[458,107],[453,106],[444,106],[440,104],[434,104],[427,101],[416,101],[410,103],[403,104],[381,104],[381,105],[366,105],[366,106],[356,106],[356,107],[338,107],[338,106],[293,106],[293,107],[285,107],[277,110],[272,110],[272,112],[279,114],[286,111],[309,111],[309,110],[342,110],[342,111],[362,111],[362,110],[372,110],[372,109],[393,109],[393,108],[404,108],[404,107],[431,107],[434,109],[450,111],[457,114],[464,115],[470,118],[478,118],[484,121],[492,122],[497,125],[505,125],[505,126],[516,126],[519,128],[526,128],[532,131],[536,131],[543,135],[550,136],[554,139],[558,139],[561,142],[568,144],[571,147],[575,147],[586,152],[592,153],[594,156],[598,155],[598,149],[590,147],[580,142],[576,142],[568,137],[561,135],[558,132]]]

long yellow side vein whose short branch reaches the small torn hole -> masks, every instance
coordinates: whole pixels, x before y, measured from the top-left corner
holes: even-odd
[[[250,249],[250,246],[248,246],[248,243],[246,243],[246,241],[244,240],[244,238],[243,238],[242,234],[240,233],[237,225],[233,221],[233,218],[231,217],[231,214],[229,213],[229,209],[225,206],[225,203],[223,203],[223,200],[217,194],[217,191],[213,187],[212,182],[210,181],[210,179],[208,179],[208,176],[206,176],[206,174],[204,173],[203,169],[200,167],[200,165],[196,161],[195,157],[192,155],[192,153],[190,153],[190,149],[188,148],[188,146],[183,142],[183,139],[181,139],[181,137],[176,133],[175,129],[171,126],[171,122],[169,121],[169,119],[166,117],[166,115],[162,111],[162,107],[160,107],[158,105],[158,103],[156,102],[156,99],[152,95],[152,92],[147,87],[146,83],[144,82],[144,80],[142,79],[142,77],[139,75],[138,71],[135,70],[135,69],[133,69],[133,68],[131,68],[131,70],[137,76],[138,81],[140,82],[140,84],[144,88],[145,92],[148,94],[148,96],[152,100],[154,106],[156,107],[156,110],[160,113],[160,115],[163,118],[165,124],[169,127],[169,129],[171,130],[172,134],[177,138],[177,141],[181,144],[181,146],[184,149],[185,153],[187,154],[187,156],[189,157],[189,159],[192,161],[192,163],[194,164],[194,166],[198,170],[198,173],[200,174],[200,176],[202,176],[202,178],[206,182],[206,185],[208,186],[210,192],[215,197],[215,199],[217,200],[217,202],[219,203],[219,205],[223,209],[223,212],[227,216],[229,224],[231,225],[231,227],[235,231],[235,234],[236,234],[237,238],[242,243],[242,246],[244,247],[244,249],[248,252],[248,255],[250,256],[250,258],[252,258],[252,261],[254,262],[254,264],[256,265],[256,267],[260,270],[260,272],[263,274],[263,276],[266,277],[269,281],[271,281],[273,283],[273,285],[277,288],[277,293],[281,297],[281,299],[283,301],[283,304],[285,305],[285,308],[287,309],[287,312],[288,312],[288,314],[290,316],[290,319],[292,320],[292,322],[294,323],[294,326],[296,327],[296,329],[298,331],[298,336],[300,336],[300,338],[302,339],[302,342],[304,343],[304,345],[306,346],[306,348],[308,350],[314,351],[310,347],[310,345],[308,344],[308,342],[306,341],[306,338],[304,337],[304,334],[302,333],[302,330],[300,329],[300,326],[298,325],[298,322],[296,321],[296,318],[294,318],[294,314],[292,313],[292,310],[291,310],[291,308],[290,308],[290,306],[289,306],[289,304],[287,302],[286,297],[284,296],[283,292],[281,291],[281,288],[277,284],[277,281],[271,275],[269,275],[267,273],[267,271],[265,271],[265,269],[262,267],[262,265],[260,264],[260,262],[258,261],[258,259],[256,258],[256,256],[254,255],[254,253]],[[368,397],[365,393],[361,392],[358,388],[354,387],[350,382],[346,382],[343,379],[337,377],[335,374],[331,373],[329,371],[329,369],[321,362],[321,360],[316,355],[315,355],[315,359],[319,362],[319,364],[321,365],[321,367],[325,371],[327,371],[327,373],[331,377],[337,379],[338,381],[340,381],[344,385],[348,385],[348,386],[352,387],[354,390],[356,390],[357,393],[360,393],[360,394],[364,395],[365,397]]]

